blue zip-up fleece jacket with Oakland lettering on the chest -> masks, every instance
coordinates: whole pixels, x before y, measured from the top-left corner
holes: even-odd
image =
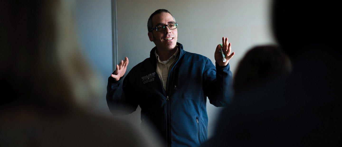
[[[137,64],[123,82],[108,78],[107,104],[113,115],[130,114],[141,107],[142,125],[150,122],[166,146],[199,146],[207,139],[207,97],[216,107],[232,98],[229,64],[216,68],[210,59],[183,50],[172,66],[164,90],[154,55]],[[148,120],[148,121],[146,121]]]

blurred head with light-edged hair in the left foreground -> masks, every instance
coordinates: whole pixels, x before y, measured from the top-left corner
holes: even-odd
[[[94,78],[79,52],[70,7],[65,1],[2,2],[0,82],[2,94],[9,96],[0,106],[61,110],[93,95],[84,94],[93,91],[89,81]]]

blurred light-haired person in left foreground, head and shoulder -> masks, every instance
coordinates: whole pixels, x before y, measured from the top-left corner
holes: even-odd
[[[82,105],[99,87],[75,41],[70,7],[1,2],[0,146],[158,146],[129,123]]]

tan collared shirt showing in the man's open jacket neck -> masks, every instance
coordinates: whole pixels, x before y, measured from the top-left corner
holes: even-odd
[[[179,49],[177,47],[176,52],[166,61],[160,61],[159,56],[157,54],[157,49],[154,52],[154,54],[156,55],[156,58],[158,60],[156,72],[157,72],[165,90],[166,90],[166,82],[168,80],[168,74],[172,68],[172,65],[178,59],[178,56],[177,56],[178,52],[179,52]]]

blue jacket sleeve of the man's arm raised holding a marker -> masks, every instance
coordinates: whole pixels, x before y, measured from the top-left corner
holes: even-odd
[[[233,77],[230,71],[229,63],[220,67],[216,63],[213,65],[210,59],[207,59],[203,71],[203,90],[209,98],[209,102],[216,107],[227,106],[232,100]]]

